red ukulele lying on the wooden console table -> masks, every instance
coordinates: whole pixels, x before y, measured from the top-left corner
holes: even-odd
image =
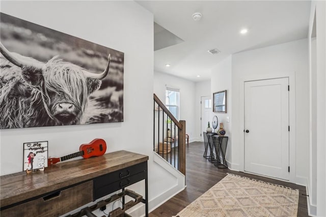
[[[95,156],[101,156],[106,151],[106,143],[102,139],[94,139],[89,144],[80,145],[79,151],[73,154],[69,154],[58,158],[49,158],[47,160],[47,165],[57,164],[57,162],[68,160],[74,157],[82,156],[84,158],[90,158]]]

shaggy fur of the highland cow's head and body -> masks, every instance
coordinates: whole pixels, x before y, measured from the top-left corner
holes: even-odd
[[[0,128],[78,124],[90,93],[101,85],[98,79],[85,78],[85,69],[57,57],[39,71],[19,68],[1,57],[0,70]],[[60,102],[76,108],[74,119],[67,123],[53,116]]]

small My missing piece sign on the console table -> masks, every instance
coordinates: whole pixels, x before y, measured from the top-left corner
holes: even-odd
[[[24,143],[23,171],[47,167],[47,141]]]

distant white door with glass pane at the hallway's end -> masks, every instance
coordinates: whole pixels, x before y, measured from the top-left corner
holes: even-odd
[[[204,142],[203,132],[207,129],[207,123],[209,121],[210,127],[212,127],[212,120],[210,120],[210,114],[212,113],[212,100],[210,96],[201,97],[201,141]]]

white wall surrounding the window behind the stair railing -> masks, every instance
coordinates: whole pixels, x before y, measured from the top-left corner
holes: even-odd
[[[179,88],[179,120],[185,120],[189,142],[195,137],[195,83],[170,74],[154,71],[154,93],[165,103],[166,85]],[[153,105],[151,106],[153,107]]]

